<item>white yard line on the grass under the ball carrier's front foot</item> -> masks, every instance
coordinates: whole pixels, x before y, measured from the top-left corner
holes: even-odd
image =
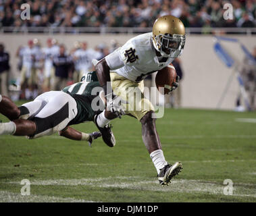
[[[143,180],[139,176],[120,176],[108,178],[84,178],[70,180],[33,180],[33,186],[90,186],[100,188],[121,188],[140,191],[161,191],[161,192],[185,192],[185,193],[207,193],[224,194],[224,185],[217,182],[201,180],[173,180],[170,186],[161,187],[157,180]],[[20,182],[9,182],[9,184],[20,184]],[[255,188],[251,188],[255,187]],[[232,196],[248,196],[256,198],[256,184],[235,184]],[[230,196],[231,197],[231,196]]]

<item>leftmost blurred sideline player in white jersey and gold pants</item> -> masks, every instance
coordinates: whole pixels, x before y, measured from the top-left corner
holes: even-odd
[[[36,85],[36,49],[32,40],[28,41],[28,47],[19,47],[17,54],[22,57],[22,70],[20,73],[20,86],[22,93],[20,99],[31,99],[32,91]]]

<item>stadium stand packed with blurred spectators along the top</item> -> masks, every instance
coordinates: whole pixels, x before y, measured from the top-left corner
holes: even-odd
[[[22,22],[20,5],[28,3],[30,20]],[[233,0],[234,20],[226,23],[226,1],[141,0],[141,1],[0,1],[0,26],[11,27],[151,27],[159,16],[180,18],[185,27],[255,27],[255,1]]]

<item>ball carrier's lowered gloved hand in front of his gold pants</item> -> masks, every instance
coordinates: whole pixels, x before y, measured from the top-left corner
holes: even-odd
[[[124,107],[122,107],[122,103],[127,103],[116,94],[109,93],[105,95],[107,99],[107,110],[111,111],[111,113],[115,113],[117,117],[121,118],[124,115]]]

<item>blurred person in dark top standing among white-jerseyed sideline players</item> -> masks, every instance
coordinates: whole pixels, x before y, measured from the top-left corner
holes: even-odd
[[[61,90],[67,85],[68,78],[72,77],[72,57],[67,55],[65,45],[59,45],[59,55],[53,57],[55,77],[53,90]]]

